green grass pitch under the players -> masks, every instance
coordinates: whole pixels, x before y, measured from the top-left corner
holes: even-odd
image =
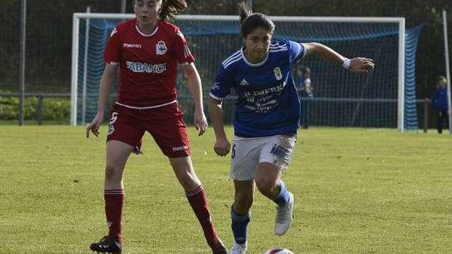
[[[210,129],[190,127],[196,172],[231,246],[229,159]],[[228,132],[232,134],[232,129]],[[0,253],[90,253],[105,235],[101,138],[84,127],[0,126]],[[124,173],[123,253],[210,253],[167,160],[147,135]],[[452,253],[452,135],[393,129],[300,130],[284,180],[295,194],[288,233],[256,192],[249,253]]]

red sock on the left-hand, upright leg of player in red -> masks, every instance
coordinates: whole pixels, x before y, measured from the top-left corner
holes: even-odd
[[[108,223],[108,236],[122,243],[122,207],[124,190],[104,190],[105,217]]]

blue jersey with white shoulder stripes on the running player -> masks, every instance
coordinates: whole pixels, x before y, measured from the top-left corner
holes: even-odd
[[[300,102],[291,69],[305,54],[303,44],[283,40],[272,42],[269,53],[260,63],[250,63],[241,48],[221,64],[210,95],[222,100],[231,88],[237,92],[236,136],[296,134]]]

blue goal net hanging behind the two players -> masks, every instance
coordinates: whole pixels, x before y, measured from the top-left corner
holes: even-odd
[[[81,19],[79,37],[78,123],[82,103],[86,105],[85,122],[97,109],[99,80],[104,69],[103,51],[111,30],[119,20],[90,19],[86,79],[86,100],[82,101],[85,20]],[[237,21],[177,20],[196,57],[203,81],[204,101],[209,97],[218,65],[239,49],[242,39]],[[287,38],[297,42],[323,43],[351,58],[364,56],[375,61],[367,75],[351,73],[334,63],[309,56],[300,65],[311,69],[314,100],[303,101],[309,107],[308,118],[314,126],[397,128],[398,33],[395,23],[313,23],[275,22],[274,40]],[[409,28],[405,34],[405,129],[418,129],[416,112],[415,62],[422,26]],[[116,86],[116,85],[115,85]],[[182,73],[177,80],[179,104],[187,122],[192,121],[193,101]],[[114,100],[112,94],[110,99]],[[224,102],[225,123],[233,118],[233,101]]]

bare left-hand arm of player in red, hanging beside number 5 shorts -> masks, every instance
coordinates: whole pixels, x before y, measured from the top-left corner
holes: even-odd
[[[104,73],[102,74],[99,85],[99,99],[97,113],[91,123],[86,127],[86,138],[89,138],[89,132],[95,136],[99,136],[99,127],[104,120],[105,106],[107,105],[108,95],[113,86],[113,79],[115,77],[117,65],[106,64]]]

